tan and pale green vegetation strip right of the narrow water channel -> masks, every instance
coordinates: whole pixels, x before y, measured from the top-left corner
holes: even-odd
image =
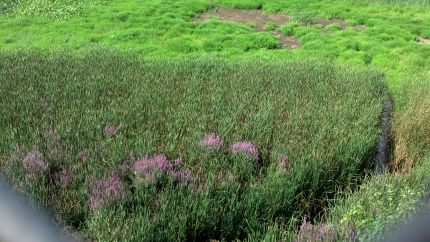
[[[403,99],[393,114],[392,173],[368,177],[359,191],[336,201],[322,221],[340,232],[352,224],[361,240],[376,241],[421,212],[430,185],[429,84],[426,78],[411,78],[401,88]]]

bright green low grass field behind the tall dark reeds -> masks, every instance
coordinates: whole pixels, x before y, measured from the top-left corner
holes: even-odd
[[[66,48],[85,52],[96,45],[161,58],[202,53],[282,60],[321,57],[383,69],[392,86],[411,73],[430,74],[429,46],[419,43],[419,39],[430,38],[428,5],[348,0],[18,2],[21,4],[9,9],[10,16],[0,19],[0,48],[4,50]],[[270,33],[254,32],[252,24],[216,18],[194,20],[216,5],[290,16],[290,22],[275,28],[297,37],[301,47],[277,49],[279,41]],[[323,28],[312,24],[313,18],[342,19],[348,25],[341,29],[334,23]]]

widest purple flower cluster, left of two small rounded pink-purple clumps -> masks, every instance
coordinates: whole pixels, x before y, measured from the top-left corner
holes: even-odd
[[[188,184],[193,180],[191,170],[182,166],[182,159],[171,162],[163,154],[155,155],[152,158],[143,157],[135,161],[134,169],[138,175],[150,183],[156,182],[159,176],[167,176],[173,181],[183,184]]]

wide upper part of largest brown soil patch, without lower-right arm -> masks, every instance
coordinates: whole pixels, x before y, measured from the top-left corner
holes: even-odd
[[[212,17],[219,17],[222,20],[247,24],[255,24],[255,31],[265,31],[264,27],[268,23],[275,23],[277,26],[290,22],[290,17],[284,14],[269,14],[261,10],[244,10],[234,8],[217,7],[211,11],[198,16],[197,20],[206,20]]]

